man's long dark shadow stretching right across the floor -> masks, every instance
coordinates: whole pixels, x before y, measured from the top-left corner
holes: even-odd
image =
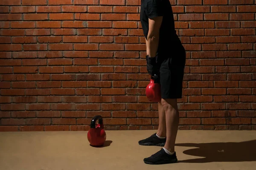
[[[179,161],[184,163],[256,161],[256,140],[245,142],[182,143],[175,144],[175,146],[198,147],[184,150],[183,153],[204,157]]]

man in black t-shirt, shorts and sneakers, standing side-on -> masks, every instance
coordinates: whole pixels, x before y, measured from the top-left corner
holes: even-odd
[[[175,31],[169,0],[141,0],[140,21],[146,39],[147,70],[160,77],[162,100],[158,103],[157,133],[139,141],[140,145],[163,146],[145,158],[146,164],[177,162],[175,140],[179,124],[177,99],[182,97],[186,51]]]

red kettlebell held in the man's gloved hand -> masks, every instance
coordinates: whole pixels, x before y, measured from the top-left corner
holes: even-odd
[[[160,79],[157,74],[154,74],[154,77],[151,77],[150,83],[146,87],[146,96],[151,102],[160,102],[161,97],[161,86]]]

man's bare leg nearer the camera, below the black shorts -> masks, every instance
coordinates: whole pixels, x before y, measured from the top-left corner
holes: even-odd
[[[164,148],[175,152],[174,146],[180,119],[177,99],[162,99],[162,105],[166,115],[166,144]]]

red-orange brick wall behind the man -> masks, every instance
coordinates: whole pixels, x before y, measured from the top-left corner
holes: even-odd
[[[256,0],[171,0],[180,130],[256,130]],[[157,129],[140,0],[1,0],[0,131]]]

